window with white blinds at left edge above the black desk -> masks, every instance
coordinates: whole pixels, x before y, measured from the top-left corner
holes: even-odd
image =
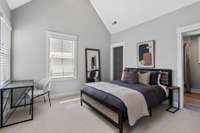
[[[10,80],[11,27],[0,17],[0,87]]]

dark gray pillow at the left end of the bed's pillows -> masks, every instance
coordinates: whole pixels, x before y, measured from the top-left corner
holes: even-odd
[[[130,84],[137,83],[138,82],[137,70],[124,69],[121,80]]]

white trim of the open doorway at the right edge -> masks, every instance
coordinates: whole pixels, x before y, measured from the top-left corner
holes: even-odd
[[[183,34],[200,30],[200,23],[177,29],[177,85],[180,87],[180,108],[184,107]]]

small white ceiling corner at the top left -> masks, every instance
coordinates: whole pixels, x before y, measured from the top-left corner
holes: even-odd
[[[28,2],[31,2],[32,0],[7,0],[8,6],[11,10],[14,10]]]

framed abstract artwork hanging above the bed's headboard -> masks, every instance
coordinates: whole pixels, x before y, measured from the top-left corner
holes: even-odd
[[[155,40],[140,42],[137,44],[138,67],[155,67]]]

